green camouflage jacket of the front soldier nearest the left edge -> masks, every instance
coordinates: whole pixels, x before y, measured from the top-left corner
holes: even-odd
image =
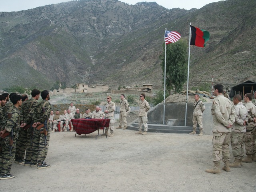
[[[10,119],[7,120],[5,129],[6,129],[6,131],[11,132],[12,128],[14,128],[13,134],[17,135],[17,134],[19,134],[19,130],[20,130],[20,111],[18,110],[18,108],[16,106],[13,105],[8,110],[8,112],[11,112],[12,116]]]

